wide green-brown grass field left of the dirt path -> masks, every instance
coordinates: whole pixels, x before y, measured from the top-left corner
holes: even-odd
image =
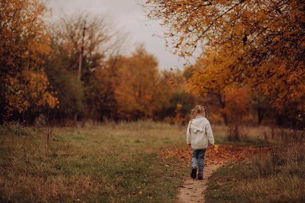
[[[0,135],[0,202],[174,202],[183,173],[157,152],[186,145],[185,128],[137,122]],[[167,165],[167,166],[166,166]]]

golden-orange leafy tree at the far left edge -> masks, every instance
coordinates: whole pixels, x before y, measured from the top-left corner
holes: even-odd
[[[43,18],[49,15],[42,0],[0,2],[0,114],[54,108],[58,104],[43,70],[50,39]]]

